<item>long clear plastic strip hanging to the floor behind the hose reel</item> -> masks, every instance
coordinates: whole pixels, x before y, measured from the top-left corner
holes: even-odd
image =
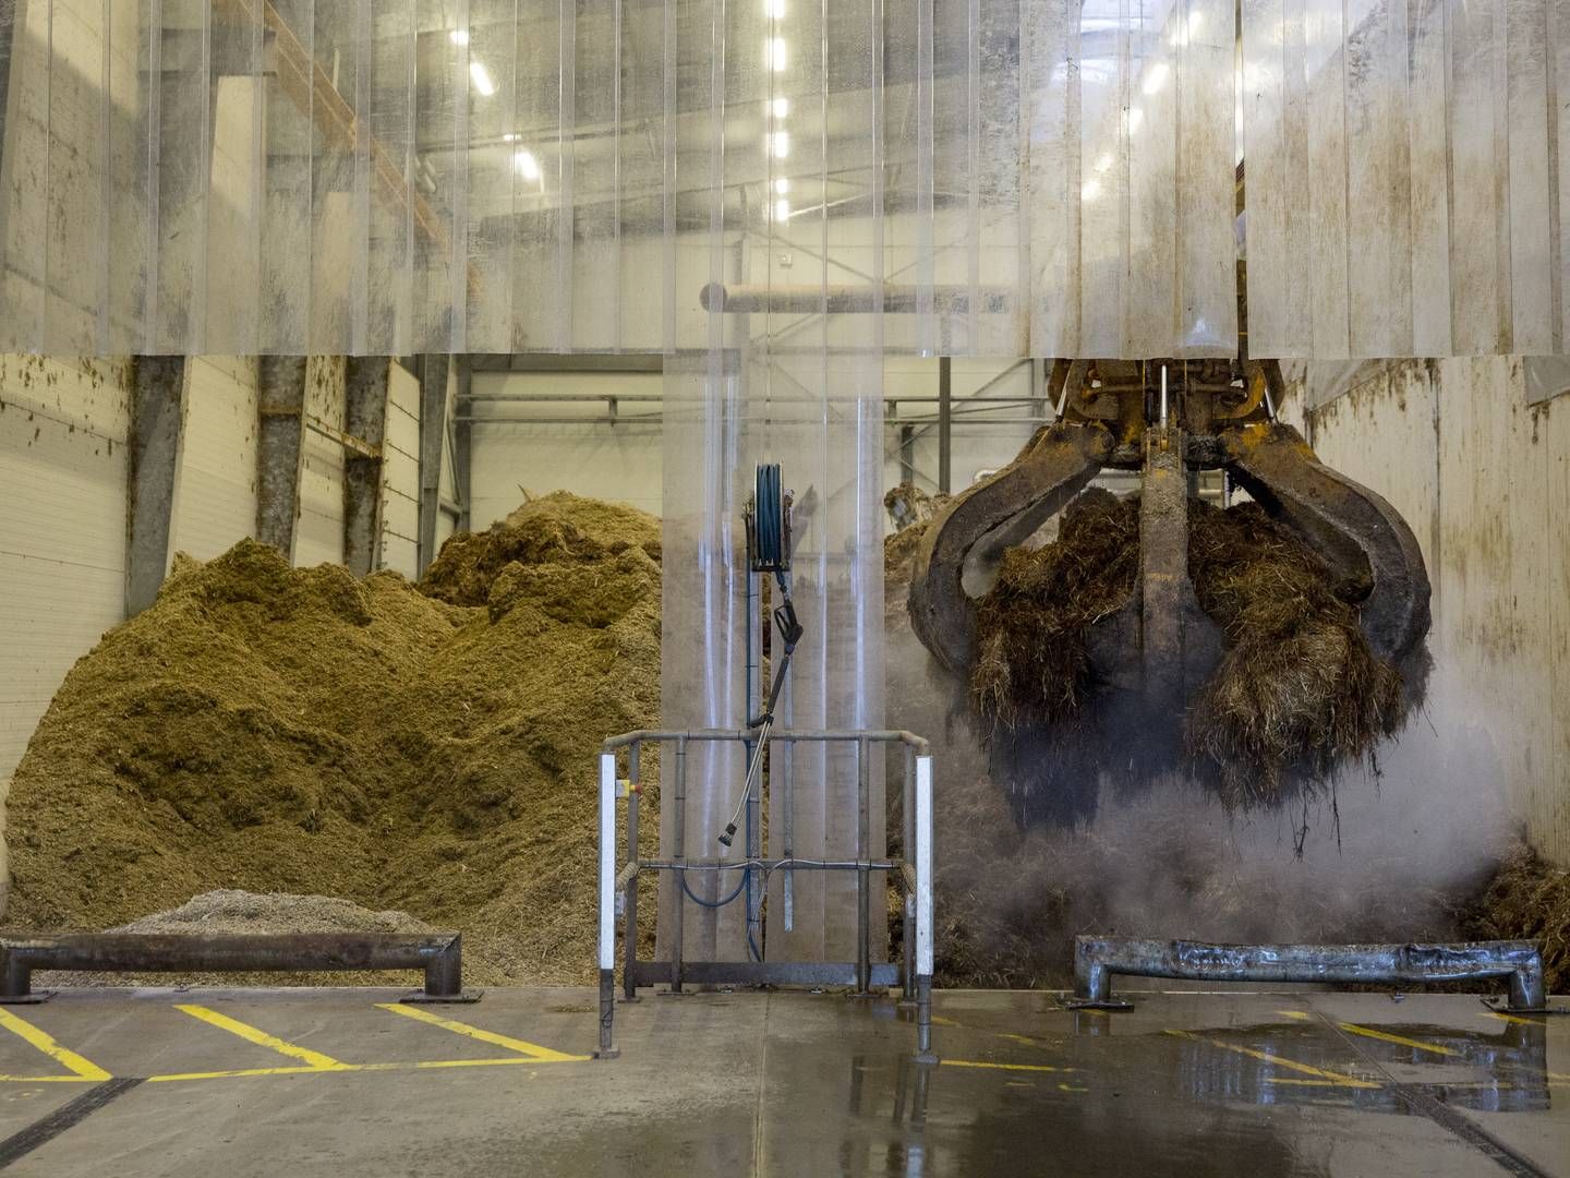
[[[697,229],[680,239],[683,286],[706,289],[697,346],[666,363],[664,723],[741,727],[761,710],[779,666],[777,633],[754,675],[772,578],[747,627],[743,509],[755,466],[779,462],[791,496],[790,584],[805,636],[779,710],[783,729],[882,724],[882,358],[892,314],[879,287],[893,251],[879,0],[832,6],[681,5],[678,86],[705,112],[694,127]],[[691,69],[691,74],[688,74]],[[721,291],[725,294],[721,295]],[[700,333],[700,335],[699,335]],[[686,339],[688,336],[685,336]],[[750,713],[750,715],[749,715]],[[670,796],[666,762],[666,796]],[[867,850],[884,848],[881,757],[868,760]],[[716,836],[741,793],[736,748],[688,755],[689,856],[724,851]],[[854,859],[859,795],[854,749],[774,746],[757,845],[771,856]],[[763,828],[766,826],[766,839]],[[675,850],[663,826],[666,851]],[[705,903],[735,875],[694,873]],[[757,880],[761,900],[761,878]],[[705,891],[699,891],[705,889]],[[787,919],[787,889],[790,917]],[[661,933],[669,938],[663,895]],[[873,897],[882,887],[871,889]],[[685,953],[703,960],[856,960],[854,875],[776,872],[768,935],[749,936],[744,903],[688,905]],[[873,928],[885,917],[873,903]],[[874,947],[874,953],[876,953]]]

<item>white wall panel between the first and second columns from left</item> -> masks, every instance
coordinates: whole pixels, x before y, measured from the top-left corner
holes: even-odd
[[[207,561],[256,534],[256,360],[193,358],[185,380],[170,556]]]

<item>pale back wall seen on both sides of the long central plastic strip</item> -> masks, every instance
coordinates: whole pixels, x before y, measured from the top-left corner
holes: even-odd
[[[1028,368],[1014,368],[1003,360],[955,360],[953,394],[956,416],[953,430],[953,488],[975,481],[978,471],[995,470],[1010,462],[1030,438],[1030,424],[984,424],[986,416],[1020,418],[1027,405],[997,407],[983,415],[970,413],[959,402],[986,386],[984,396],[1030,396]],[[485,528],[523,501],[523,492],[542,495],[570,490],[642,507],[658,515],[663,495],[664,454],[658,423],[639,424],[639,415],[658,415],[664,379],[658,374],[487,374],[477,372],[474,393],[507,393],[521,402],[477,402],[476,415],[521,418],[523,424],[484,424],[474,427],[471,481],[474,493],[474,526]],[[884,390],[889,397],[937,394],[937,361],[918,357],[889,357],[884,364]],[[598,401],[537,401],[531,394],[600,397]],[[619,402],[619,424],[545,424],[546,418],[603,418],[604,397]],[[655,397],[626,401],[625,397]],[[937,487],[937,416],[936,401],[904,401],[900,419],[920,423],[912,446],[915,482],[923,490]],[[529,419],[539,424],[528,424]],[[892,423],[884,438],[884,484],[900,482],[900,429]]]

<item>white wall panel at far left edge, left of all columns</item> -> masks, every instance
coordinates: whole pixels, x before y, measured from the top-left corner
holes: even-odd
[[[0,357],[0,781],[124,616],[124,364]]]

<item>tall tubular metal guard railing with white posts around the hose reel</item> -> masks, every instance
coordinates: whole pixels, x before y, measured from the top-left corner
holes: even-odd
[[[900,730],[785,730],[774,732],[769,743],[787,749],[798,743],[848,743],[856,746],[856,856],[843,861],[798,859],[787,850],[776,859],[692,859],[686,854],[686,759],[694,743],[736,743],[747,746],[757,738],[755,729],[688,729],[639,730],[611,737],[600,748],[600,1051],[601,1059],[617,1054],[612,1046],[615,1019],[615,900],[623,897],[623,985],[626,997],[636,996],[639,985],[666,982],[680,991],[683,982],[699,985],[854,985],[857,993],[871,986],[900,982],[904,997],[915,1004],[917,1052],[931,1059],[933,1038],[933,755],[922,737]],[[674,744],[669,798],[672,804],[670,858],[637,858],[639,763],[645,743]],[[904,748],[904,847],[914,850],[911,861],[873,859],[868,854],[870,812],[870,746],[900,744]],[[626,751],[626,865],[615,865],[615,801],[619,796],[617,757]],[[790,836],[787,834],[787,848]],[[675,889],[670,927],[670,960],[637,960],[637,875],[639,872],[670,872],[685,878],[688,872],[757,870],[768,876],[783,870],[856,872],[856,961],[683,961],[681,928],[686,898],[685,887]],[[901,964],[871,963],[871,930],[868,898],[873,872],[889,872],[906,892],[904,960]],[[788,884],[787,884],[788,887]],[[787,900],[788,905],[788,900]]]

